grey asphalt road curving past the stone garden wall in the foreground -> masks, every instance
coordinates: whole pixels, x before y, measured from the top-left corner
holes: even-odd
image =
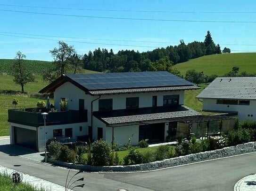
[[[233,191],[235,183],[256,173],[256,153],[141,173],[81,173],[76,191]],[[0,165],[65,186],[67,169],[0,152]],[[76,171],[70,172],[70,177]]]

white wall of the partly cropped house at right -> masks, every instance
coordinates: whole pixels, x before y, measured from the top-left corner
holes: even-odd
[[[229,106],[229,107],[228,107]],[[203,99],[203,110],[237,111],[240,120],[256,121],[256,101],[250,100],[250,105],[216,104],[216,99]],[[249,115],[249,116],[248,116]]]

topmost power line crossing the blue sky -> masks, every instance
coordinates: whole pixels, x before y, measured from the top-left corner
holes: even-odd
[[[25,5],[8,5],[0,4],[0,6],[8,7],[24,7],[24,8],[48,8],[48,9],[63,9],[63,10],[83,10],[83,11],[112,11],[112,12],[142,12],[142,13],[209,13],[209,14],[256,14],[256,12],[226,12],[226,11],[149,11],[149,10],[121,10],[121,9],[91,9],[91,8],[57,8],[57,7],[40,7],[40,6],[25,6]]]

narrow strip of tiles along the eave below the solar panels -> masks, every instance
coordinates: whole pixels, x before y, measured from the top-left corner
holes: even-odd
[[[158,92],[170,90],[196,90],[199,89],[196,85],[191,86],[172,86],[172,87],[158,87],[158,88],[132,88],[132,89],[117,89],[117,90],[95,90],[89,91],[92,95],[104,95],[115,93],[136,93],[136,92]]]

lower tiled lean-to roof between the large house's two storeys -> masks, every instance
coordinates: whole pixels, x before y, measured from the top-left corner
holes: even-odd
[[[186,106],[140,108],[137,110],[116,110],[112,112],[93,112],[93,115],[106,124],[149,122],[177,117],[201,115]]]

